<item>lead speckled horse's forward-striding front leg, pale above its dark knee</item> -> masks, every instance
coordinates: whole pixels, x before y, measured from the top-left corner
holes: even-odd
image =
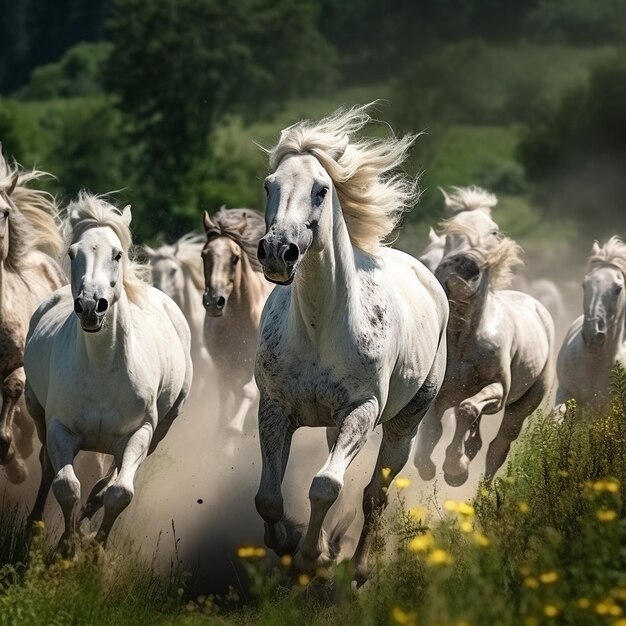
[[[376,426],[378,412],[378,400],[371,398],[334,416],[339,424],[335,445],[309,490],[311,517],[298,557],[301,569],[315,571],[317,566],[329,565],[336,557],[322,532],[322,525],[339,497],[348,466]]]

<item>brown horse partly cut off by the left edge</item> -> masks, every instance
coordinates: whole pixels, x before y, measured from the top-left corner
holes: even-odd
[[[23,459],[33,452],[34,424],[22,396],[28,322],[67,283],[52,258],[62,248],[56,205],[48,193],[25,186],[44,175],[10,166],[0,155],[0,464],[16,484],[26,478]]]

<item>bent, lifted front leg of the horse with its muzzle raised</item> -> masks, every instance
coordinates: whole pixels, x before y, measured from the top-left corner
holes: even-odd
[[[508,390],[507,390],[508,392]],[[498,381],[483,387],[477,394],[463,400],[454,411],[456,428],[454,437],[446,449],[443,464],[445,481],[459,487],[469,475],[469,462],[476,456],[480,444],[480,417],[483,413],[497,413],[502,409],[505,385]],[[466,435],[470,433],[469,449],[466,449]],[[471,455],[471,456],[470,456]]]

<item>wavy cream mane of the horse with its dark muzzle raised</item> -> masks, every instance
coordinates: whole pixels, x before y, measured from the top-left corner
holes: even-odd
[[[491,269],[489,286],[492,289],[509,287],[515,270],[524,265],[522,247],[501,233],[495,235],[496,242],[492,243],[491,239],[487,240],[472,226],[459,224],[452,219],[442,222],[440,229],[445,235],[462,235],[467,238],[469,251],[479,258],[482,268]]]

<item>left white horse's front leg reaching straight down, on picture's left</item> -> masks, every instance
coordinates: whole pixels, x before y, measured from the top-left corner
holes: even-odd
[[[76,508],[80,502],[80,482],[73,463],[80,450],[81,440],[60,422],[51,421],[46,447],[55,473],[52,492],[61,506],[65,521],[65,531],[57,549],[64,557],[71,558],[75,556],[77,548]]]

